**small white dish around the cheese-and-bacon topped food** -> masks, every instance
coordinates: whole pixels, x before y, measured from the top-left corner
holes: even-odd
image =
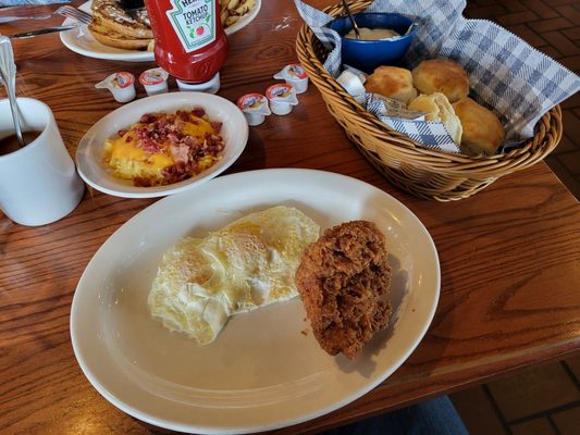
[[[104,141],[122,128],[139,121],[144,113],[172,112],[177,109],[203,108],[211,121],[222,122],[225,140],[222,158],[213,166],[184,182],[166,186],[135,187],[131,179],[119,178],[103,162]],[[153,198],[176,194],[197,186],[230,167],[242,154],[248,141],[248,123],[244,113],[229,100],[211,94],[169,92],[141,98],[122,105],[99,120],[81,139],[76,150],[76,166],[81,177],[104,194],[123,198]]]

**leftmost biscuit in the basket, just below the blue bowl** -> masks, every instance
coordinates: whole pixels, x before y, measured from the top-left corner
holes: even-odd
[[[394,98],[405,104],[417,97],[417,89],[412,86],[411,72],[396,66],[379,66],[367,78],[365,89],[367,92]]]

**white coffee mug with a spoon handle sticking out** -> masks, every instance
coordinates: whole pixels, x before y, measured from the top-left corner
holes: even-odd
[[[85,185],[74,165],[50,108],[18,98],[23,130],[39,136],[0,156],[0,209],[22,225],[45,225],[65,216],[81,202]],[[14,135],[8,99],[0,100],[0,139]]]

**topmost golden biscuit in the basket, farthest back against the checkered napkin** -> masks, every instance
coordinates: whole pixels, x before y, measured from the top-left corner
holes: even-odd
[[[469,77],[457,63],[444,59],[422,61],[412,70],[412,84],[420,94],[441,92],[454,103],[469,94]]]

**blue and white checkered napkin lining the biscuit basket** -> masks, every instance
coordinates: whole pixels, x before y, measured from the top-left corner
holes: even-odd
[[[295,0],[306,24],[330,51],[324,67],[334,78],[341,71],[341,37],[326,27],[334,20]],[[404,61],[409,69],[422,60],[444,58],[469,74],[470,97],[493,109],[506,128],[506,144],[517,146],[533,136],[538,121],[554,105],[580,90],[580,77],[530,47],[505,28],[462,16],[465,0],[375,0],[366,12],[394,12],[419,24]],[[442,123],[392,116],[390,99],[366,95],[367,110],[393,129],[437,151],[459,152]]]

